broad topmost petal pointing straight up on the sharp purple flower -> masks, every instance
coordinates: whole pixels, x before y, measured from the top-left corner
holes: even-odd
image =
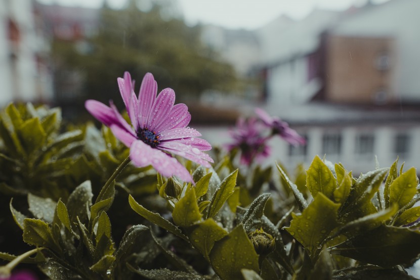
[[[150,110],[156,99],[157,83],[151,73],[146,73],[139,92],[139,126],[145,128],[148,123]]]

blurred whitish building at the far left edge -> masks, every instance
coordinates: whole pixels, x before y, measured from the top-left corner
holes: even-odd
[[[0,0],[0,106],[52,99],[49,43],[38,20],[31,0]]]

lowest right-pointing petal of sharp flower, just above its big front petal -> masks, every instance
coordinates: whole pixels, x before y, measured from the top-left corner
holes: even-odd
[[[213,163],[213,159],[208,154],[200,151],[198,148],[185,145],[176,141],[165,142],[163,144],[160,144],[159,148],[185,157],[190,161],[200,164],[206,168],[211,167],[211,165],[208,162]]]

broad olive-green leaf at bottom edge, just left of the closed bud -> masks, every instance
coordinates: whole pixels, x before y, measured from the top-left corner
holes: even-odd
[[[258,255],[242,224],[216,242],[209,257],[213,269],[222,279],[240,279],[244,268],[260,270]]]

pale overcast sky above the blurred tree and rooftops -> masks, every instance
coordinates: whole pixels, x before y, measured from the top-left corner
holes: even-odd
[[[103,0],[39,0],[67,6],[100,7]],[[143,0],[150,1],[150,0]],[[344,10],[351,5],[360,6],[367,0],[174,0],[187,23],[212,23],[227,28],[255,29],[281,14],[294,19],[305,17],[314,8]],[[388,0],[372,0],[382,3]],[[393,0],[398,1],[398,0]],[[118,8],[124,0],[108,0]]]

